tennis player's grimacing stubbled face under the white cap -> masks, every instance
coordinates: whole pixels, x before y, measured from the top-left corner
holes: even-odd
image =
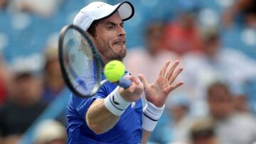
[[[117,12],[97,24],[93,40],[105,62],[124,59],[126,49],[123,26],[124,23]]]

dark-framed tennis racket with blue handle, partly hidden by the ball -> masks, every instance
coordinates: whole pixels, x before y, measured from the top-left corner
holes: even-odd
[[[103,84],[109,82],[102,79],[105,63],[89,35],[78,26],[69,25],[61,29],[58,52],[63,79],[75,95],[82,98],[93,96]],[[117,82],[124,89],[131,83],[124,78]]]

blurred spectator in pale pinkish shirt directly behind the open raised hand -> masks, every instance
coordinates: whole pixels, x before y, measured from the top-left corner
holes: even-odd
[[[163,45],[164,25],[151,23],[146,29],[144,48],[133,48],[127,52],[124,63],[127,70],[134,75],[144,74],[149,82],[154,82],[159,75],[157,70],[166,60],[175,60],[173,52],[164,50]],[[154,67],[154,69],[152,69]]]

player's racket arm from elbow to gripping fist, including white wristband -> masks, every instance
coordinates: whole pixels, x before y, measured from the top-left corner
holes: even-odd
[[[122,107],[124,110],[132,101],[137,101],[143,91],[143,85],[139,79],[134,76],[127,78],[132,81],[132,85],[128,89],[117,87],[117,89],[109,95],[114,96],[115,101],[119,101],[121,105],[124,104],[124,107]],[[115,109],[115,107],[111,107],[112,104],[109,104],[110,99],[112,99],[109,96],[105,99],[96,99],[93,101],[85,114],[87,126],[97,134],[105,133],[113,128],[119,120],[119,116],[122,114],[122,111],[118,109],[116,109],[117,112],[112,110]]]

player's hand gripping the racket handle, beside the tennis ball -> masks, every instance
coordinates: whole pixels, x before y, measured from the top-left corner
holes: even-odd
[[[139,78],[129,75],[125,77],[126,79],[130,79],[132,84],[127,89],[122,87],[119,88],[119,93],[122,98],[126,101],[137,101],[143,92],[143,84]]]

